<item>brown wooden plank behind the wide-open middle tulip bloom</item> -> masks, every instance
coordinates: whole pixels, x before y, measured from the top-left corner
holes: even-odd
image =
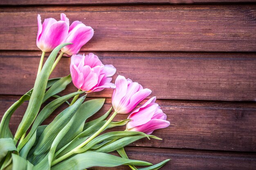
[[[256,55],[243,53],[95,53],[159,99],[255,101]],[[23,95],[34,85],[39,52],[0,53],[0,94]],[[129,63],[129,64],[127,64]],[[63,57],[52,77],[69,74]],[[15,88],[19,87],[19,88]],[[67,89],[76,91],[73,85]],[[111,97],[112,90],[90,94]]]

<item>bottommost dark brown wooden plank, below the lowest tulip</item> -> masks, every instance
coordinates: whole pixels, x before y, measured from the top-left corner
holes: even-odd
[[[171,159],[161,170],[255,170],[255,153],[209,152],[196,150],[154,149],[126,147],[130,159],[158,163]],[[137,168],[140,168],[139,166]],[[127,166],[115,168],[93,167],[91,170],[130,170]]]

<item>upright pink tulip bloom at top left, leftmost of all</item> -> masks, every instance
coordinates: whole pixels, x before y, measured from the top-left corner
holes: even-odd
[[[38,33],[36,45],[43,52],[50,52],[56,46],[63,43],[68,34],[69,20],[64,13],[61,13],[61,20],[57,21],[54,18],[46,18],[41,23],[41,17],[37,16]]]

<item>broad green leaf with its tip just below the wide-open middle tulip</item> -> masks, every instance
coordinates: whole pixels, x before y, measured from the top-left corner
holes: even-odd
[[[65,138],[58,144],[57,150],[72,141],[79,133],[83,131],[86,119],[97,113],[103,106],[105,99],[92,99],[84,102],[74,115],[74,124],[66,133]]]

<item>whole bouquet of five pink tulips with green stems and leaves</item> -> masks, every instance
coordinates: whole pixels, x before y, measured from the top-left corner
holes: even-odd
[[[42,51],[38,73],[34,88],[15,102],[2,117],[1,170],[84,170],[93,166],[120,165],[127,165],[132,170],[137,170],[138,166],[147,166],[139,170],[157,170],[169,161],[167,159],[152,165],[146,161],[131,160],[126,155],[126,145],[144,137],[160,140],[150,134],[156,129],[169,126],[170,123],[155,103],[156,97],[148,99],[135,109],[150,95],[150,89],[143,88],[121,75],[118,75],[114,84],[111,82],[116,73],[114,66],[102,64],[93,53],[78,54],[93,33],[93,29],[82,22],[74,21],[70,25],[69,19],[63,13],[60,21],[47,18],[43,24],[38,15],[36,44]],[[51,54],[43,64],[46,52]],[[49,79],[64,54],[71,56],[70,75]],[[58,95],[71,82],[78,91]],[[87,121],[101,109],[105,99],[85,101],[86,95],[104,88],[114,89],[112,107],[99,118]],[[48,101],[49,98],[53,100]],[[71,98],[72,102],[69,103]],[[27,110],[13,135],[9,128],[10,118],[25,101],[29,101]],[[68,107],[50,124],[41,125],[63,104],[68,104]],[[112,121],[117,114],[127,113],[130,113],[127,119]],[[109,128],[125,125],[124,131],[108,130],[104,133]],[[109,154],[113,151],[117,151],[120,156]]]

